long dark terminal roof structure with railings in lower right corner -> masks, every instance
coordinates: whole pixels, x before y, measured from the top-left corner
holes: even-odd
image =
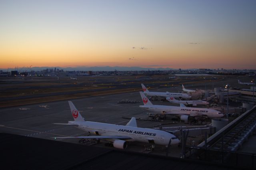
[[[220,129],[198,146],[183,144],[182,157],[204,162],[217,162],[237,168],[255,169],[256,154],[237,152],[256,130],[256,105]]]

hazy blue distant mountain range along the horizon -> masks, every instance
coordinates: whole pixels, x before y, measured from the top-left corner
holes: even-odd
[[[31,67],[33,71],[41,71],[44,69],[54,69],[55,67]],[[151,68],[151,67],[110,67],[110,66],[95,66],[95,67],[56,67],[56,69],[63,69],[64,71],[155,71],[155,70],[175,70],[172,68]],[[7,69],[0,69],[7,71]],[[15,70],[15,68],[9,68],[8,71]],[[28,67],[20,67],[18,71],[30,71]]]

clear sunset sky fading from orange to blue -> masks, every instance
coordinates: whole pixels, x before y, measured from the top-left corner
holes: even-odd
[[[1,0],[0,68],[256,69],[256,0]]]

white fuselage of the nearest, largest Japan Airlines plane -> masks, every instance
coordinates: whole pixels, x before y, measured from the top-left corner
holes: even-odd
[[[87,131],[92,134],[101,136],[128,136],[132,139],[126,141],[137,141],[149,143],[154,141],[154,144],[168,145],[171,139],[171,144],[177,144],[179,140],[173,134],[162,130],[155,130],[150,128],[138,128],[123,125],[112,125],[107,123],[98,122],[78,122],[68,121],[69,124],[78,125],[81,130]],[[115,139],[110,139],[110,141]]]

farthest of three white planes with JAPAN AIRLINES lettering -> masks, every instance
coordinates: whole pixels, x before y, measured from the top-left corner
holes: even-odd
[[[190,95],[185,94],[185,93],[170,93],[168,91],[166,91],[166,93],[165,92],[150,92],[144,86],[144,84],[141,84],[141,86],[142,86],[142,89],[144,91],[144,94],[149,96],[149,97],[156,97],[157,96],[157,97],[164,97],[164,98],[166,98],[166,97],[173,96],[173,97],[177,97],[177,98],[182,97],[183,99],[190,99],[191,98]]]

